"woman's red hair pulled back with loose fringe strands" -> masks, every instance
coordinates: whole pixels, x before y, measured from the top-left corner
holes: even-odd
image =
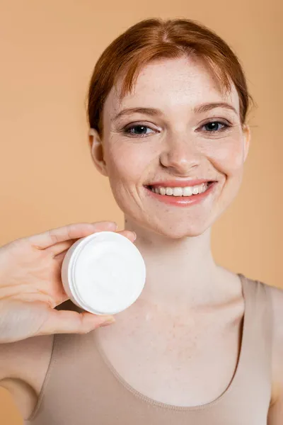
[[[140,21],[111,42],[100,55],[88,89],[88,123],[103,135],[103,105],[123,75],[121,98],[132,91],[141,68],[156,59],[201,57],[226,91],[231,81],[240,100],[242,125],[252,98],[241,64],[229,45],[212,30],[189,19],[151,18]]]

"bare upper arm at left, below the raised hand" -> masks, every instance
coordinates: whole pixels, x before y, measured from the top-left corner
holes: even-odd
[[[11,393],[24,419],[35,408],[52,356],[54,335],[0,344],[0,385]]]

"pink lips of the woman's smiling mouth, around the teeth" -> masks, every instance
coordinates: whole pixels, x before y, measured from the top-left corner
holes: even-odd
[[[207,180],[202,181],[202,183],[206,183],[206,182]],[[217,181],[211,181],[211,183],[209,184],[209,188],[207,188],[207,191],[205,191],[204,193],[198,193],[197,195],[192,195],[192,196],[159,195],[159,193],[154,193],[153,191],[151,191],[149,186],[145,186],[145,189],[149,196],[152,196],[154,199],[158,200],[159,202],[166,203],[169,205],[175,205],[177,207],[187,207],[190,205],[196,205],[198,203],[201,203],[202,200],[207,198],[207,196],[209,196],[209,194],[212,193],[212,191],[214,191],[216,183]],[[168,182],[166,182],[166,185],[167,184]],[[197,183],[197,184],[201,184],[201,183]],[[158,182],[158,186],[161,186],[159,182]],[[187,186],[195,186],[195,184],[187,185]],[[184,187],[184,186],[171,186],[171,187]]]

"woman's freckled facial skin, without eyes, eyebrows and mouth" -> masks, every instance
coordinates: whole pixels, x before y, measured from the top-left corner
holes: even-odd
[[[238,193],[248,154],[249,131],[241,127],[236,89],[225,96],[201,60],[183,58],[147,65],[133,94],[122,99],[122,104],[118,95],[112,89],[105,102],[104,162],[99,160],[98,135],[93,143],[95,163],[109,177],[118,205],[129,220],[151,232],[170,238],[203,234]],[[236,113],[224,108],[193,112],[195,107],[213,102],[227,102]],[[137,106],[158,108],[162,115],[134,113],[113,120],[118,111]],[[205,132],[203,125],[212,118],[231,127]],[[123,134],[129,123],[149,126],[146,135]],[[144,185],[153,181],[177,178],[218,183],[204,203],[185,210],[156,203],[144,190]]]

